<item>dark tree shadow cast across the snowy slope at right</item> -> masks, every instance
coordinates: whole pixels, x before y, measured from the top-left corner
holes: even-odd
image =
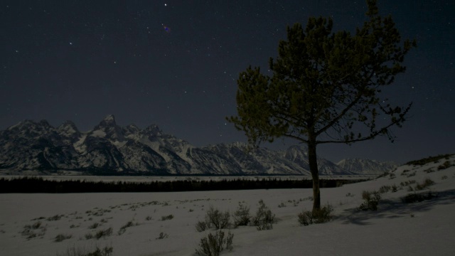
[[[412,193],[412,192],[410,192]],[[455,203],[455,189],[439,192],[421,192],[418,195],[428,195],[421,202],[405,203],[404,198],[395,198],[392,200],[382,200],[379,203],[378,210],[358,210],[358,208],[349,208],[344,210],[336,219],[341,220],[343,224],[370,225],[370,220],[378,218],[403,218],[409,217],[414,213],[422,213],[431,210],[434,206]]]

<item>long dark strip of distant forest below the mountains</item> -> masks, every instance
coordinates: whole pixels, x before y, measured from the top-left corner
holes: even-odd
[[[321,179],[321,188],[333,188],[360,180]],[[183,181],[48,181],[42,177],[1,178],[0,193],[101,193],[101,192],[176,192],[221,191],[274,188],[312,188],[313,181],[262,178],[256,180]]]

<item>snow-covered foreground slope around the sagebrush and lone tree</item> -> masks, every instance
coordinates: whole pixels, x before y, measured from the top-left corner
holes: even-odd
[[[439,170],[446,161],[451,166]],[[409,186],[426,178],[435,184],[416,193],[431,191],[437,197],[402,203],[403,196],[414,193]],[[377,211],[357,210],[363,191],[394,185],[398,190],[382,193]],[[273,229],[230,230],[233,250],[222,255],[455,255],[455,156],[400,166],[373,181],[323,188],[321,201],[333,206],[333,220],[301,226],[297,215],[311,210],[310,196],[311,189],[0,194],[0,255],[63,255],[68,248],[95,246],[113,247],[113,255],[194,255],[200,238],[215,232],[195,228],[210,206],[233,213],[245,201],[254,215],[260,199],[277,216]],[[173,218],[162,220],[168,215]],[[119,233],[129,221],[134,225]],[[108,228],[112,235],[86,238]],[[167,238],[157,239],[160,233]],[[55,242],[57,235],[70,238]]]

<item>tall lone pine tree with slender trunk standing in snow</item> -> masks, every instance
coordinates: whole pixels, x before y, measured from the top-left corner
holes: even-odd
[[[368,21],[354,34],[332,32],[331,18],[311,17],[287,27],[278,58],[270,58],[272,76],[247,68],[237,80],[237,113],[228,121],[245,132],[251,145],[277,137],[308,146],[313,178],[313,211],[321,208],[316,146],[361,142],[401,127],[410,105],[397,107],[380,98],[381,87],[405,72],[405,55],[416,42],[401,43],[391,16],[382,18],[368,0]]]

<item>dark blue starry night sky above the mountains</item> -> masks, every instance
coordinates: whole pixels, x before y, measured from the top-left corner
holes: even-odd
[[[455,1],[382,0],[402,38],[418,47],[385,97],[410,119],[385,137],[352,146],[321,145],[332,161],[369,158],[404,163],[455,153]],[[225,121],[236,114],[238,74],[267,72],[286,26],[331,16],[334,31],[355,31],[365,1],[18,1],[0,6],[0,129],[24,119],[81,131],[107,114],[117,124],[165,133],[195,146],[246,142]],[[284,149],[296,141],[264,146]]]

